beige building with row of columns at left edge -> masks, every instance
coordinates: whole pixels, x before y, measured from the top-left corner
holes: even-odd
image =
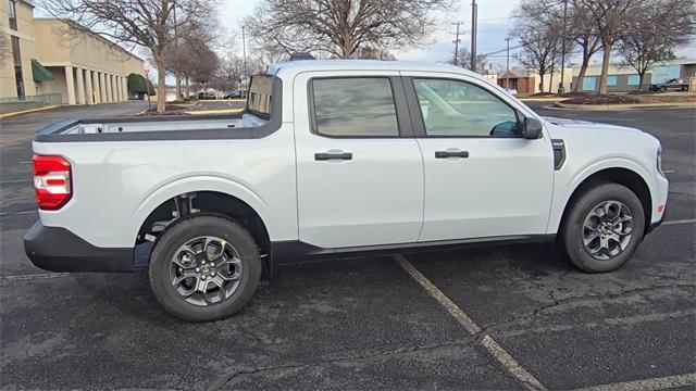
[[[30,0],[0,0],[0,102],[95,104],[127,100],[142,59],[62,18],[34,17]]]

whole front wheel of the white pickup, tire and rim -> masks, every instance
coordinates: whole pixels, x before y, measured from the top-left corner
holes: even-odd
[[[588,273],[611,272],[633,256],[645,232],[645,212],[633,191],[599,184],[570,207],[560,242],[575,266]]]

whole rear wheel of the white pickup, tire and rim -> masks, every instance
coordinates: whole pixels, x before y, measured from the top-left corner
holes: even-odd
[[[249,232],[224,217],[182,220],[158,240],[150,287],[169,313],[210,321],[241,310],[261,277],[259,249]]]

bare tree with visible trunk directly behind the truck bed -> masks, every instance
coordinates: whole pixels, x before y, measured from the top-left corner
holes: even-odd
[[[210,15],[213,7],[210,0],[41,0],[41,4],[116,43],[147,48],[158,70],[158,113],[165,110],[166,52],[174,30]]]

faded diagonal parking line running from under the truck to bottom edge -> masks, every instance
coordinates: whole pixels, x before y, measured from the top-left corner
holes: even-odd
[[[447,312],[459,321],[460,325],[469,333],[475,336],[482,331],[481,327],[476,325],[463,310],[461,310],[455,302],[452,302],[443,291],[440,291],[431,280],[427,279],[421,272],[419,272],[403,255],[394,255],[396,262],[408,273],[413,279],[425,289],[430,295],[432,295]],[[506,370],[510,373],[515,379],[518,379],[529,390],[546,390],[546,387],[542,384],[532,374],[526,371],[515,360],[506,352],[490,336],[485,335],[481,340],[481,343],[486,348],[486,351],[502,365]]]

